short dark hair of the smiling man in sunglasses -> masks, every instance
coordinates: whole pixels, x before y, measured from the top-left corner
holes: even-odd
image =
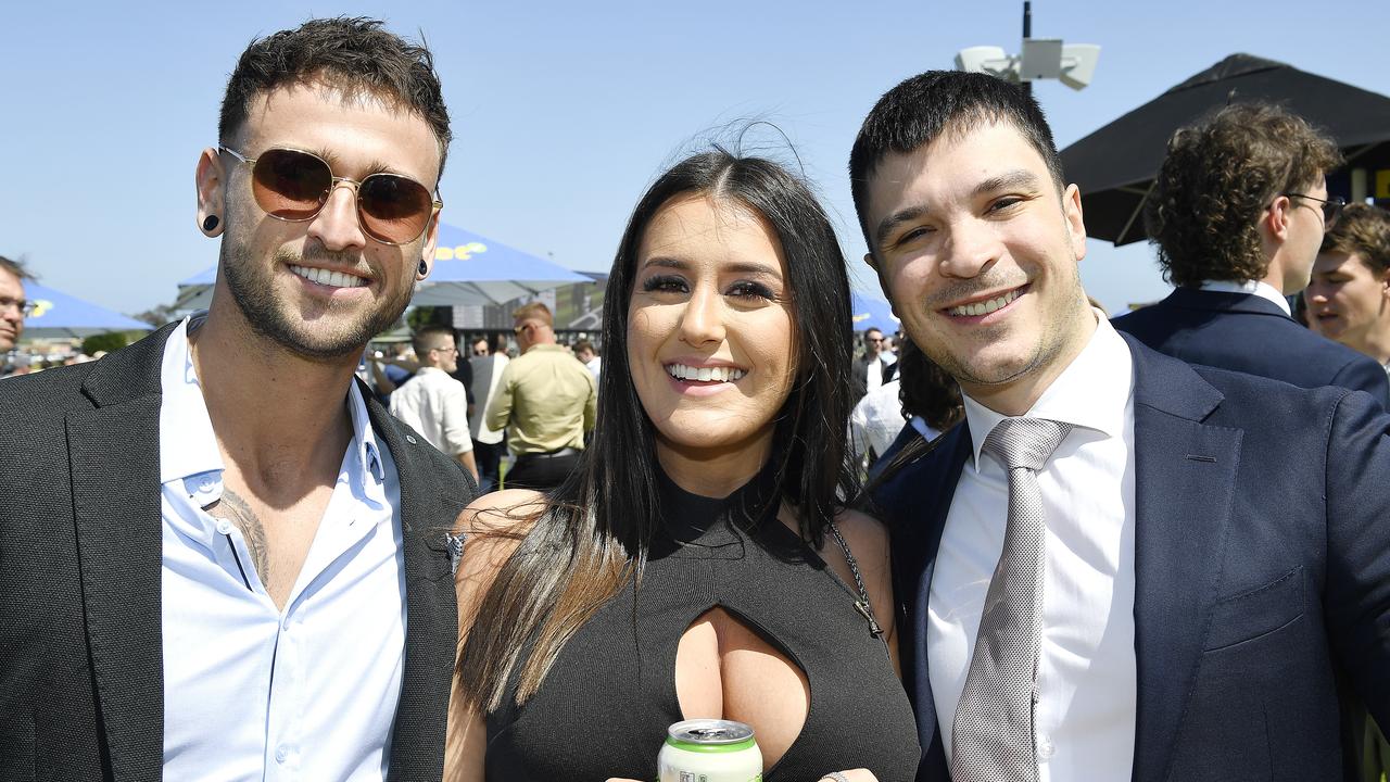
[[[373,95],[410,109],[439,142],[439,174],[449,152],[449,110],[424,46],[382,29],[379,19],[309,19],[295,29],[252,40],[227,79],[218,141],[232,143],[256,96],[286,85],[322,81],[348,93]]]

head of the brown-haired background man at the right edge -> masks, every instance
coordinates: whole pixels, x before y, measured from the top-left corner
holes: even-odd
[[[1308,326],[1390,373],[1390,212],[1352,203],[1322,239],[1304,291]]]

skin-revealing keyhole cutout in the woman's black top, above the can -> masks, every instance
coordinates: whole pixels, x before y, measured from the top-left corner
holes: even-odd
[[[791,749],[810,712],[806,672],[745,618],[716,605],[676,647],[676,697],[685,719],[752,725],[769,769]]]

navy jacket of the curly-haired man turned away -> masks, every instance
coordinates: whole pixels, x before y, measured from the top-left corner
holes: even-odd
[[[1371,356],[1300,326],[1252,294],[1177,288],[1156,305],[1116,317],[1115,328],[1188,363],[1273,377],[1302,388],[1365,391],[1390,410],[1386,370]]]

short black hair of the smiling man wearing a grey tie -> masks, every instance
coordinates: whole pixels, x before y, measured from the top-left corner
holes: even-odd
[[[1008,122],[1042,157],[1058,192],[1066,188],[1062,159],[1042,109],[1017,86],[987,74],[927,71],[890,89],[865,117],[849,152],[849,191],[870,253],[869,179],[888,153],[912,154],[942,134],[963,135],[990,122]]]

